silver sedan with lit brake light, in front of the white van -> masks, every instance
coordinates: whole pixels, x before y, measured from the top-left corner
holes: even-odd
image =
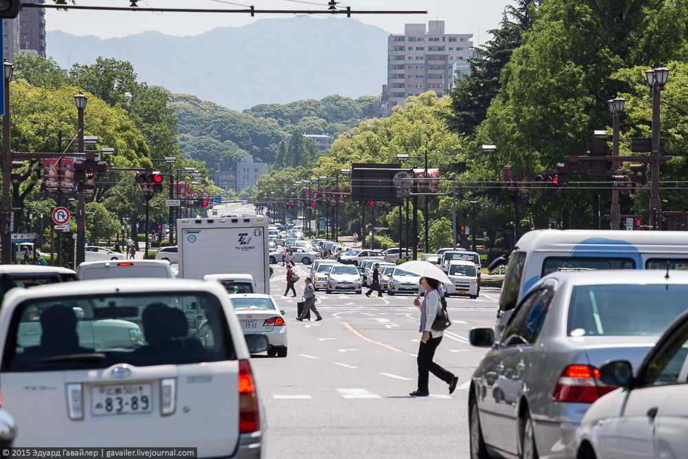
[[[552,273],[519,302],[502,340],[471,330],[471,344],[491,347],[471,378],[472,457],[575,458],[583,414],[615,388],[601,381],[603,365],[640,365],[688,307],[688,273],[665,273]]]

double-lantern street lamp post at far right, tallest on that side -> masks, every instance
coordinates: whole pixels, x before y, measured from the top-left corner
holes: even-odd
[[[659,165],[661,163],[659,155],[659,127],[660,127],[660,92],[663,91],[669,78],[667,67],[658,67],[652,70],[645,70],[647,84],[652,89],[652,150],[650,153],[650,173],[652,185],[650,186],[649,196],[649,217],[652,229],[662,229],[661,202],[659,200]]]

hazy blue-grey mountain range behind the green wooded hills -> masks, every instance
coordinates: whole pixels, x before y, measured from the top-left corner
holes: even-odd
[[[144,32],[99,39],[47,32],[61,67],[98,56],[129,61],[138,81],[194,94],[230,109],[262,103],[380,94],[387,81],[388,32],[355,19],[261,19],[195,36]]]

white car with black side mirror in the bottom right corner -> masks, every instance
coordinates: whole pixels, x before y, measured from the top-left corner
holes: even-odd
[[[671,285],[670,290],[676,301],[688,293],[683,286]],[[599,398],[583,416],[576,435],[577,459],[683,457],[688,451],[687,357],[688,313],[684,312],[635,374],[634,364],[624,356],[600,367],[601,383],[621,388]]]

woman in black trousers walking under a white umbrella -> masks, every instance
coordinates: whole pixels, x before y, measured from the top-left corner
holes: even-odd
[[[426,397],[430,394],[428,388],[430,373],[447,383],[447,385],[449,385],[449,394],[451,394],[454,392],[454,389],[456,389],[456,383],[458,383],[459,378],[433,362],[435,351],[438,345],[440,345],[440,342],[442,342],[442,335],[444,334],[444,332],[438,332],[431,328],[435,321],[435,317],[442,312],[442,303],[440,302],[440,294],[438,293],[440,281],[437,279],[430,279],[429,277],[422,277],[420,279],[420,284],[422,284],[425,289],[423,302],[421,304],[418,297],[413,300],[413,306],[420,308],[419,331],[422,332],[420,345],[418,346],[418,359],[416,359],[418,362],[418,389],[411,392],[409,395],[414,397]]]

